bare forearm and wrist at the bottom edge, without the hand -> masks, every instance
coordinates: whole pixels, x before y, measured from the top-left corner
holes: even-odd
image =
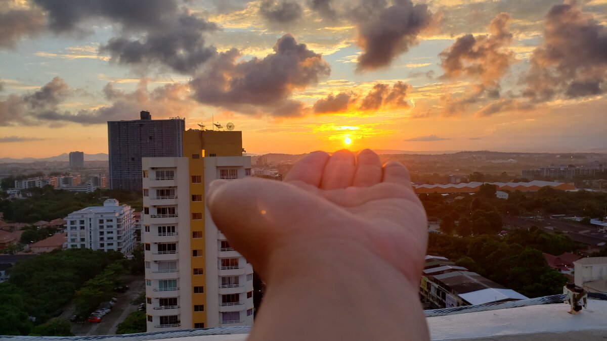
[[[418,286],[379,257],[344,245],[283,249],[251,340],[427,340]]]

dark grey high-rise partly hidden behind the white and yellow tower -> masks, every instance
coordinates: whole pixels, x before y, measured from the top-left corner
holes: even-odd
[[[147,111],[134,121],[107,122],[111,189],[141,190],[142,157],[181,157],[185,119],[152,120]]]

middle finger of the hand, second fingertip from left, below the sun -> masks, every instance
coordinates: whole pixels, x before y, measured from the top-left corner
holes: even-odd
[[[338,189],[352,186],[356,157],[350,150],[339,150],[331,155],[322,174],[320,188]]]

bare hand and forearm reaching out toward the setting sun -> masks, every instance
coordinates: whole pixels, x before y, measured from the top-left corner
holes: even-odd
[[[378,155],[314,152],[285,181],[211,183],[217,228],[266,283],[249,340],[427,340],[426,212]]]

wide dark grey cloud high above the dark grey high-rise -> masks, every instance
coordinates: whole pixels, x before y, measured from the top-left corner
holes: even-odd
[[[118,64],[160,64],[189,74],[217,55],[215,47],[205,46],[203,38],[204,33],[217,29],[219,27],[211,22],[183,13],[166,30],[148,32],[141,39],[112,38],[100,52],[109,52],[111,60]]]

